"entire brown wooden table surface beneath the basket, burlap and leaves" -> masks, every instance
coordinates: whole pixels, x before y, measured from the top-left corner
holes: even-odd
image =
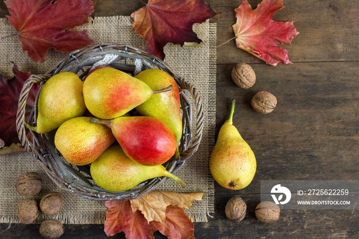
[[[220,45],[234,36],[234,9],[239,0],[207,0],[222,14],[217,24]],[[253,8],[261,0],[248,1]],[[281,218],[264,224],[255,218],[261,180],[359,180],[359,2],[349,0],[285,0],[275,20],[294,21],[300,32],[289,50],[293,64],[269,66],[235,47],[234,40],[217,49],[216,132],[236,100],[233,123],[252,147],[257,171],[245,189],[232,191],[215,184],[215,213],[208,223],[195,223],[196,238],[359,237],[358,210],[282,210]],[[98,0],[93,16],[130,15],[141,1]],[[0,2],[0,17],[7,13]],[[231,79],[235,63],[249,63],[255,85],[244,90]],[[257,91],[274,94],[278,104],[269,115],[252,109]],[[241,222],[226,218],[233,195],[247,203]],[[39,225],[1,224],[0,237],[37,238]],[[7,230],[5,230],[7,229]],[[105,238],[103,225],[66,225],[62,238]],[[119,233],[114,238],[124,238]],[[156,238],[163,236],[156,232]]]

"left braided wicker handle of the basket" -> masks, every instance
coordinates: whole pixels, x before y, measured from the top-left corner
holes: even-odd
[[[26,103],[32,85],[34,83],[40,84],[42,82],[45,82],[48,78],[49,76],[46,75],[31,75],[29,79],[27,79],[24,83],[17,104],[16,131],[18,134],[18,139],[21,141],[21,144],[25,147],[25,149],[28,152],[37,156],[39,156],[38,152],[35,150],[33,144],[26,137],[26,132],[25,132],[26,126],[24,125],[25,114],[26,114]]]

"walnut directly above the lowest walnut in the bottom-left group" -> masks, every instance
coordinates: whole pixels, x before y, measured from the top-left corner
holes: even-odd
[[[63,197],[58,192],[46,194],[40,201],[40,209],[46,215],[55,215],[63,208]]]

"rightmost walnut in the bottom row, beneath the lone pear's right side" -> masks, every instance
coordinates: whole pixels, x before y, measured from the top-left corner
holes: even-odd
[[[255,216],[264,223],[274,223],[279,219],[281,209],[273,202],[264,201],[255,208]]]

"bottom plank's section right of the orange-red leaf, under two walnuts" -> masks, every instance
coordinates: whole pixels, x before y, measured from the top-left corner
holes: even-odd
[[[259,194],[240,195],[247,204],[243,221],[226,218],[225,207],[231,195],[219,195],[215,217],[205,228],[195,228],[196,238],[356,238],[359,236],[357,210],[281,210],[275,223],[261,223],[255,217]],[[197,224],[195,224],[197,225]]]

